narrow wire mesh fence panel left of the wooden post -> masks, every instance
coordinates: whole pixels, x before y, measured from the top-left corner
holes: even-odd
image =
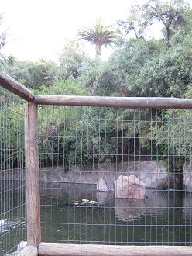
[[[23,103],[0,87],[0,255],[26,240]]]

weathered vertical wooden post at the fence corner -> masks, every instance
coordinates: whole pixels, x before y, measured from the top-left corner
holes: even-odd
[[[37,136],[37,105],[29,102],[25,106],[27,244],[39,247],[41,232]]]

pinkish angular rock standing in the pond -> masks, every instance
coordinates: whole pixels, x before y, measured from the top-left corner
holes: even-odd
[[[120,175],[115,181],[115,197],[144,199],[146,197],[146,184],[139,181],[135,175]]]

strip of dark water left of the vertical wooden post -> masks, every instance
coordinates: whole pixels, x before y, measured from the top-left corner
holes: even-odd
[[[5,223],[2,220],[6,220]],[[16,251],[21,240],[26,240],[25,186],[18,182],[1,182],[0,255]]]

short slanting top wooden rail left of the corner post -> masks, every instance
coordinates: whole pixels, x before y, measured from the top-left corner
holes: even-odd
[[[31,102],[34,99],[34,94],[32,91],[2,71],[0,71],[0,85],[28,102]]]

